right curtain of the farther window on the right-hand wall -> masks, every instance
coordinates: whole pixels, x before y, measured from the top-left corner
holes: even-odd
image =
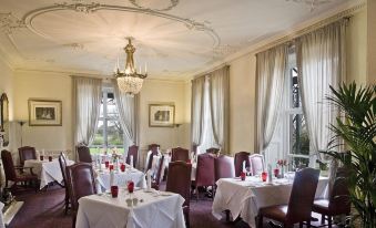
[[[228,93],[230,66],[226,65],[210,75],[210,115],[215,143],[222,153],[228,153]]]

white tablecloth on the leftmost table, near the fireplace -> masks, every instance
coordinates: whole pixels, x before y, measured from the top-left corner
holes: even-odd
[[[67,160],[67,165],[74,164],[73,160]],[[40,189],[47,186],[49,183],[63,180],[61,168],[58,159],[52,162],[39,160],[39,159],[27,159],[24,160],[24,167],[33,167],[32,172],[38,176],[40,182]],[[27,169],[26,169],[27,170]]]

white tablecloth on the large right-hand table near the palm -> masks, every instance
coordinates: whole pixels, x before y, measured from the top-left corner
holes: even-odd
[[[327,196],[328,178],[321,177],[316,189],[316,198]],[[241,216],[251,227],[255,226],[258,209],[273,205],[288,204],[292,180],[276,179],[273,184],[263,183],[260,177],[222,178],[216,182],[212,214],[217,219],[222,211],[230,209],[233,218]]]

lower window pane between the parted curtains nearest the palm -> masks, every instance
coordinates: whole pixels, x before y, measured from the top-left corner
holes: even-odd
[[[303,114],[289,115],[291,154],[309,155],[309,138]]]

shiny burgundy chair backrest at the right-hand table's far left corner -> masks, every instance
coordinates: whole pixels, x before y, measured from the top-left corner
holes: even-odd
[[[226,155],[220,155],[219,157],[215,157],[214,174],[215,182],[221,178],[235,177],[234,158]]]

